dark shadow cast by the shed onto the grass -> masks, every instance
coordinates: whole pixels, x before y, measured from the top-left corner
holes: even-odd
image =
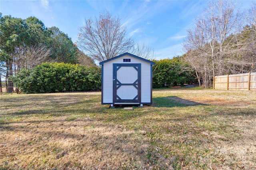
[[[153,107],[188,107],[188,106],[199,106],[205,105],[203,103],[197,103],[186,99],[181,99],[177,96],[168,97],[155,97],[153,98]]]

